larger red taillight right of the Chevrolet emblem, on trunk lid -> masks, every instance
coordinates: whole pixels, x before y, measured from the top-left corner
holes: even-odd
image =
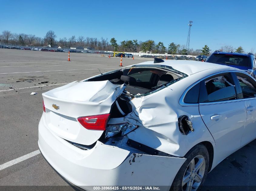
[[[110,114],[108,113],[108,114],[103,114],[103,115],[93,115],[93,116],[87,116],[87,117],[80,117],[77,120],[86,129],[104,131],[106,129],[106,126],[107,126],[109,115]]]

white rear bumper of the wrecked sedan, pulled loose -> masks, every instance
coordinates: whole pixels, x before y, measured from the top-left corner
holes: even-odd
[[[85,190],[93,190],[92,186],[170,186],[186,160],[135,154],[99,141],[90,150],[81,150],[54,135],[43,118],[38,146],[62,177]]]

